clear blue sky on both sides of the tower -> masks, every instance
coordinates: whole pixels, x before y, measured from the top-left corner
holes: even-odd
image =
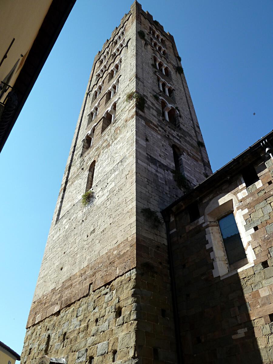
[[[174,36],[215,171],[272,130],[273,2],[141,4]],[[0,340],[19,354],[94,56],[130,5],[76,1],[0,154]]]

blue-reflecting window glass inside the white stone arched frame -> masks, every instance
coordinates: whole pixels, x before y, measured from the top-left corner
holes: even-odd
[[[246,253],[234,215],[229,214],[220,219],[219,226],[229,264],[231,265],[242,259],[245,259]]]

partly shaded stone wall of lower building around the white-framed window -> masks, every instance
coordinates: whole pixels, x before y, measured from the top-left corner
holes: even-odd
[[[173,208],[170,239],[187,364],[273,363],[273,163],[263,155],[254,167],[260,180],[248,188],[239,173],[200,191],[196,221],[190,223],[185,203]],[[223,194],[237,198],[234,213],[242,213],[255,256],[252,264],[220,277],[204,213]]]

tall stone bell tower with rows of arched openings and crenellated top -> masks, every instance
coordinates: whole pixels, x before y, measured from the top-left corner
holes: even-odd
[[[137,1],[95,56],[22,363],[177,363],[160,211],[211,174],[180,60]]]

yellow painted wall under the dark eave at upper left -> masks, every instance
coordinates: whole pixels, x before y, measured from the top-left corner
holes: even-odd
[[[13,38],[15,41],[0,67],[0,81],[4,80],[19,59],[9,82],[11,86],[14,85],[51,3],[52,0],[1,1],[0,61]],[[2,96],[1,101],[4,97]]]

